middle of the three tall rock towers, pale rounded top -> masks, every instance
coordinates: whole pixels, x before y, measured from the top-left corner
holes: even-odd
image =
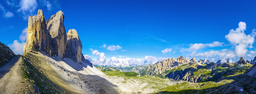
[[[58,11],[46,21],[47,31],[50,33],[51,46],[53,52],[59,58],[63,59],[66,50],[67,34],[64,26],[64,14]]]

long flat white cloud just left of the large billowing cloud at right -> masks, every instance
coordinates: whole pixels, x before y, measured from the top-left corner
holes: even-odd
[[[224,43],[223,42],[219,42],[219,41],[214,41],[212,43],[207,43],[207,44],[190,44],[191,46],[188,48],[188,50],[198,50],[198,49],[202,49],[202,48],[206,48],[206,47],[218,47],[218,46],[222,46]]]

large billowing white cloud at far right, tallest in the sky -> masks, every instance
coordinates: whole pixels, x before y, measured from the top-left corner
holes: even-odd
[[[235,46],[235,54],[237,56],[245,56],[248,51],[247,48],[251,49],[255,40],[255,29],[248,35],[244,33],[244,30],[246,30],[246,23],[239,22],[238,28],[229,30],[229,34],[225,36],[230,44]]]

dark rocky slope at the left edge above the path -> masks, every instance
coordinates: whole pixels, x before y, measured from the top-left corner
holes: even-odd
[[[0,42],[0,65],[3,65],[4,63],[11,60],[15,54],[12,50],[5,44]]]

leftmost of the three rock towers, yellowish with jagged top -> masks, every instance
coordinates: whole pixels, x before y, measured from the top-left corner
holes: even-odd
[[[43,51],[48,55],[52,55],[45,16],[40,9],[37,15],[28,17],[27,42],[24,45],[23,53],[31,50]]]

